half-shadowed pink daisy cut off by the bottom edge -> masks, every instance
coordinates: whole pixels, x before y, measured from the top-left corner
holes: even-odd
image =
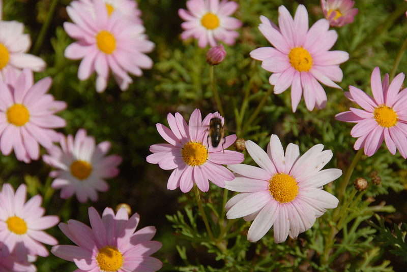
[[[129,219],[125,208],[116,215],[106,208],[100,218],[91,207],[89,219],[92,228],[76,220],[60,223],[62,232],[77,246],[59,245],[51,249],[55,256],[75,262],[79,268],[75,271],[157,271],[162,267],[160,260],[150,257],[162,246],[151,241],[156,228],[148,226],[134,232],[140,220],[137,213]]]

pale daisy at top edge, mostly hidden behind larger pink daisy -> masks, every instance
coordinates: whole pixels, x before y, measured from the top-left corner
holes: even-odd
[[[96,18],[95,7],[92,0],[79,0],[86,5],[86,9],[91,11]],[[110,15],[113,11],[120,14],[132,23],[142,24],[140,19],[141,11],[137,8],[138,4],[133,0],[103,0],[107,13]]]

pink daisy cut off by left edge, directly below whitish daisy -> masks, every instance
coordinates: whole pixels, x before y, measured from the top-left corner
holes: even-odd
[[[40,157],[39,144],[47,148],[59,141],[53,128],[66,126],[66,121],[54,115],[64,110],[64,101],[54,101],[46,94],[52,79],[46,77],[34,84],[33,72],[27,68],[20,75],[8,70],[5,82],[0,82],[0,150],[3,155],[14,153],[18,160],[30,162]]]

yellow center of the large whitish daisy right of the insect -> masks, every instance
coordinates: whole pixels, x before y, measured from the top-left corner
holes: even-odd
[[[291,202],[298,194],[296,179],[284,173],[274,174],[269,180],[269,191],[280,203]]]

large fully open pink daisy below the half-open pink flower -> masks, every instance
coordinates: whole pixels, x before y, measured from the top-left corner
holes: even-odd
[[[278,8],[278,28],[264,16],[260,16],[260,32],[274,46],[261,47],[250,52],[254,59],[263,61],[261,67],[273,74],[269,78],[274,93],[279,94],[291,86],[293,112],[296,111],[304,92],[309,111],[314,107],[325,108],[327,95],[319,82],[341,89],[343,74],[339,64],[349,58],[344,51],[328,51],[338,35],[329,29],[329,22],[320,19],[308,29],[308,13],[299,5],[293,17],[284,6]],[[319,82],[318,82],[319,81]]]

